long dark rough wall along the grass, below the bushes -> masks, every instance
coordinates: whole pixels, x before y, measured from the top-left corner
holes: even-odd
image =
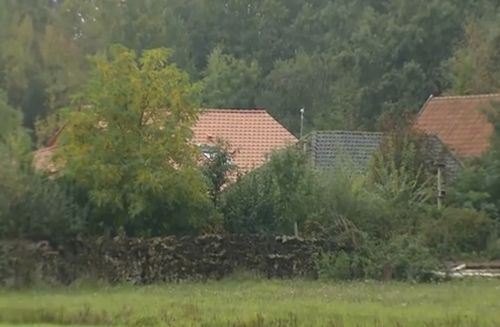
[[[97,238],[56,249],[44,242],[1,242],[0,281],[67,284],[89,278],[149,284],[219,279],[238,270],[268,278],[315,277],[315,256],[337,250],[331,241],[285,236]]]

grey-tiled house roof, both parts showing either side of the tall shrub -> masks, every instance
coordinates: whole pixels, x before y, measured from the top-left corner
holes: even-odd
[[[379,132],[316,131],[307,136],[307,154],[318,168],[350,165],[363,172],[387,136]],[[445,180],[453,180],[462,167],[460,160],[437,136],[429,135],[423,142],[432,158],[429,164],[442,168]]]

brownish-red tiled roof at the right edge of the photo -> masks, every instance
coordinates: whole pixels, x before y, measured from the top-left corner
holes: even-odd
[[[500,94],[431,97],[423,106],[415,127],[435,134],[459,157],[478,157],[488,151],[493,125],[484,110]]]

